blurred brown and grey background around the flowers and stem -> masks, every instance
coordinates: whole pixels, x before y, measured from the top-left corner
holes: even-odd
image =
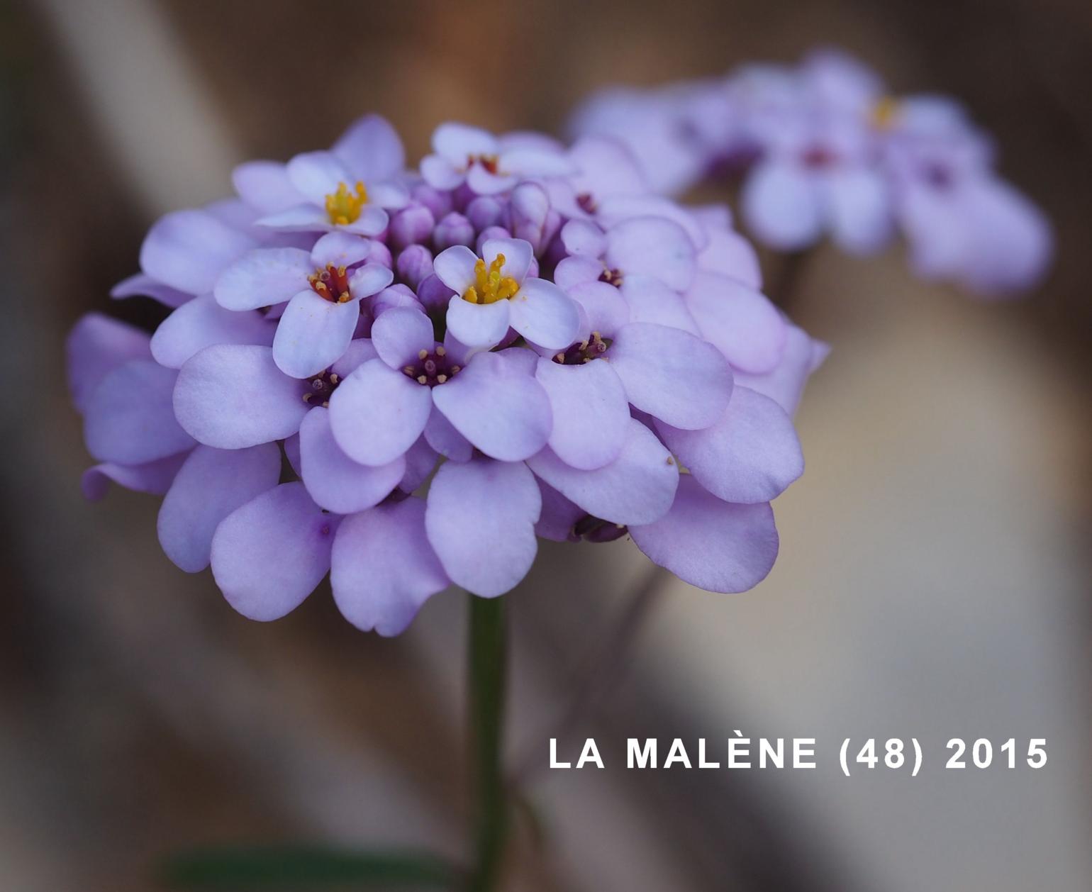
[[[395,641],[321,591],[251,623],[162,556],[155,500],[81,500],[62,338],[147,225],[364,111],[419,157],[443,119],[557,131],[593,87],[819,43],[964,99],[1055,221],[1056,271],[984,305],[898,249],[815,258],[795,313],[834,353],[798,418],[782,558],[747,595],[662,594],[566,738],[596,736],[602,772],[544,771],[546,740],[645,564],[629,543],[543,549],[511,596],[510,721],[541,828],[521,823],[506,889],[1092,888],[1085,0],[0,5],[0,885],[154,889],[158,856],[207,843],[465,846],[460,595]],[[817,737],[820,766],[620,764],[630,735],[724,756],[734,729]],[[912,735],[917,778],[836,768],[843,737]],[[941,768],[949,737],[1010,736],[1045,737],[1047,766]]]

